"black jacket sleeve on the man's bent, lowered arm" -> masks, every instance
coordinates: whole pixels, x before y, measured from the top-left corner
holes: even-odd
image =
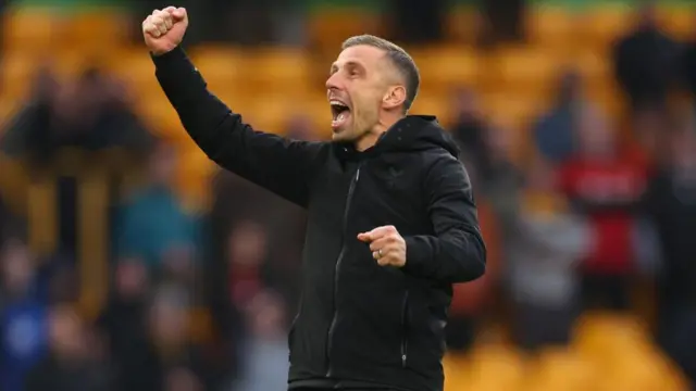
[[[403,270],[445,283],[483,276],[486,248],[464,166],[453,156],[439,159],[431,167],[424,186],[435,235],[405,238]]]

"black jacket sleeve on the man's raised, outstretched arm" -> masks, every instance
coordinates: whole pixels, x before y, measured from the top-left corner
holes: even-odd
[[[307,206],[321,142],[289,140],[254,130],[214,94],[184,49],[152,56],[156,75],[184,128],[221,167]]]

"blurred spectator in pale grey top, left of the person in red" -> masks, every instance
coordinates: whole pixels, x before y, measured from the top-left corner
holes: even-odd
[[[537,160],[529,175],[510,253],[515,339],[525,350],[568,344],[579,314],[576,265],[591,247],[585,220],[555,190],[551,166]]]

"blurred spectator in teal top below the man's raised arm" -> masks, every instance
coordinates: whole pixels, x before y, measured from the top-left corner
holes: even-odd
[[[153,272],[188,268],[190,252],[198,245],[198,223],[183,210],[172,188],[176,164],[172,146],[158,144],[148,166],[149,182],[129,198],[117,217],[116,253],[141,258]]]

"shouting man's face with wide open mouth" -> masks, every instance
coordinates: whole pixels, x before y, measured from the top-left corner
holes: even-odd
[[[377,124],[393,81],[387,77],[393,74],[389,66],[385,52],[371,46],[355,46],[340,52],[326,80],[334,140],[357,140]]]

